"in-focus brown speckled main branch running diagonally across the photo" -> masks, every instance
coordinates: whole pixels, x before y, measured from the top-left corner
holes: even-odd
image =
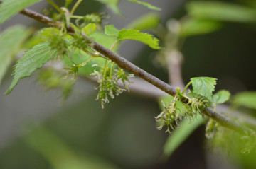
[[[58,25],[62,24],[61,22],[55,22],[52,19],[41,15],[40,13],[36,13],[36,12],[30,11],[28,9],[23,9],[23,11],[21,11],[21,13],[23,15],[26,15],[30,18],[35,19],[36,21],[39,21],[41,23],[46,23],[46,25],[50,25],[53,27],[58,27]],[[70,28],[69,31],[74,33],[74,30],[72,28]],[[84,35],[84,37],[86,39],[88,39],[87,36]],[[95,49],[97,52],[100,52],[100,54],[104,55],[105,57],[111,59],[113,62],[118,64],[119,67],[132,72],[133,74],[139,76],[140,78],[144,79],[145,81],[148,81],[149,83],[151,83],[152,85],[161,89],[162,91],[168,93],[169,95],[172,95],[172,96],[176,95],[176,88],[169,86],[169,84],[167,84],[164,81],[161,81],[159,78],[156,78],[155,76],[147,73],[143,69],[141,69],[138,66],[132,64],[131,62],[127,61],[127,59],[120,57],[119,55],[110,51],[110,49],[103,47],[102,45],[100,45],[97,42],[93,42],[92,48]],[[183,99],[181,101],[185,104],[188,103],[187,99]],[[215,112],[214,110],[212,110],[208,107],[205,110],[203,110],[203,114],[205,114],[208,117],[213,118],[213,120],[217,121],[218,123],[222,124],[225,127],[228,127],[230,129],[234,129],[237,132],[240,132],[241,134],[252,134],[253,136],[256,136],[255,131],[253,131],[252,129],[247,128],[237,122],[233,122],[232,120],[228,119],[227,117],[224,117],[223,115],[220,115],[218,112]]]

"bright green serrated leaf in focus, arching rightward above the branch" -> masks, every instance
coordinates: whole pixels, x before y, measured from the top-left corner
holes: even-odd
[[[157,39],[153,35],[141,33],[139,32],[139,30],[120,30],[117,40],[137,40],[139,42],[143,42],[146,45],[149,45],[149,47],[151,47],[152,49],[160,49],[159,39]]]

